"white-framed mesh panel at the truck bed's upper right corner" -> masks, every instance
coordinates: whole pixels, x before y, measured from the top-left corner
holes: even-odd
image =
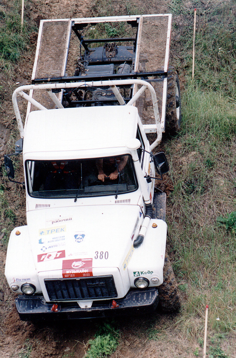
[[[140,16],[134,71],[167,72],[171,14]]]

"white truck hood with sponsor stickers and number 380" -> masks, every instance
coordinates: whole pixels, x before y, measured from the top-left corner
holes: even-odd
[[[30,245],[37,272],[64,269],[63,277],[83,277],[92,276],[95,267],[120,268],[142,220],[138,205],[29,211]]]

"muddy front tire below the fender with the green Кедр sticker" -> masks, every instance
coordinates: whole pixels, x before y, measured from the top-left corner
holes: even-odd
[[[163,284],[158,286],[159,308],[163,312],[178,312],[180,310],[180,295],[174,272],[167,253],[163,267]]]

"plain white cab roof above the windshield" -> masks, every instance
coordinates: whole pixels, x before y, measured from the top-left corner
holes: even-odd
[[[46,159],[58,151],[67,154],[76,151],[78,155],[78,151],[125,148],[127,140],[136,137],[138,117],[134,106],[30,112],[25,123],[23,152],[41,153]]]

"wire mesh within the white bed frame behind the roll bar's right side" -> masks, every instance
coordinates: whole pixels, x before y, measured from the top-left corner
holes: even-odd
[[[159,110],[159,116],[160,120],[162,119],[162,102],[163,102],[163,83],[164,79],[153,79],[153,80],[145,80],[146,82],[149,82],[156,92],[156,98],[157,98],[157,104],[158,104],[158,110]],[[141,85],[135,85],[134,86],[134,94],[138,92],[138,90],[141,88]],[[154,117],[154,111],[153,111],[153,102],[151,100],[151,93],[149,89],[146,89],[144,93],[136,100],[135,106],[138,108],[139,116],[141,118],[143,125],[155,125],[155,117]],[[165,113],[163,113],[163,116]]]

